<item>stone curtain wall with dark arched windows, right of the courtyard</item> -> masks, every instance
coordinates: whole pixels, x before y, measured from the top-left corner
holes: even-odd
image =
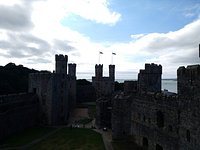
[[[168,103],[169,102],[169,103]],[[149,150],[155,145],[177,150],[179,117],[177,98],[147,94],[135,96],[131,107],[131,135]]]

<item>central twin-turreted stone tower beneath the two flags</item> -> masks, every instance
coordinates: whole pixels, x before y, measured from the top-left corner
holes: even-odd
[[[109,77],[103,77],[103,65],[95,65],[92,85],[96,91],[96,125],[111,127],[111,99],[114,93],[115,65],[109,65]]]

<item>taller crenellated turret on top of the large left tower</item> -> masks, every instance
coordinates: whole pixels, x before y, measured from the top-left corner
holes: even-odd
[[[67,74],[67,62],[68,56],[67,55],[56,55],[56,73],[60,74]]]

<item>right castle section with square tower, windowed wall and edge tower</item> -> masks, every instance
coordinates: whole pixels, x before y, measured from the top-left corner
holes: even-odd
[[[161,92],[161,65],[146,64],[112,99],[113,139],[148,150],[200,149],[200,65],[177,70],[178,94]]]

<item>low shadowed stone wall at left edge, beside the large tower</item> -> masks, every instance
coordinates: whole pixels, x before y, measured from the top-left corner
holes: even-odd
[[[37,125],[38,105],[31,93],[0,96],[0,140]]]

